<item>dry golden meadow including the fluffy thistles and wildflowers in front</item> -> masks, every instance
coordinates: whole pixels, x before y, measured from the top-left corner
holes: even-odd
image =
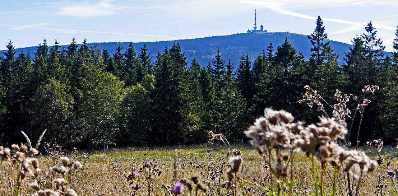
[[[360,196],[396,195],[398,146],[384,147],[375,139],[359,145],[367,94],[360,97],[338,89],[329,104],[309,86],[301,103],[322,112],[317,123],[295,120],[284,110],[265,108],[264,115],[244,134],[248,143],[231,145],[222,133],[208,132],[208,144],[196,146],[131,147],[103,151],[62,151],[57,144],[37,150],[26,142],[0,147],[2,195],[207,195],[207,196]],[[355,144],[345,122],[357,101],[360,123]],[[333,108],[330,118],[324,108]],[[352,119],[352,122],[354,119]],[[348,137],[347,137],[348,136]],[[366,145],[364,145],[366,144]],[[8,184],[9,186],[6,186]]]

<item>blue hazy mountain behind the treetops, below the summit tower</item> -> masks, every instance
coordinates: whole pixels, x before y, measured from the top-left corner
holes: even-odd
[[[220,49],[224,61],[228,61],[228,59],[230,59],[232,64],[237,67],[242,54],[249,54],[251,60],[253,61],[256,56],[258,56],[264,49],[268,47],[270,42],[272,42],[274,48],[276,49],[276,47],[281,45],[286,38],[289,39],[289,41],[293,44],[297,52],[304,54],[306,59],[311,56],[311,44],[307,38],[307,35],[289,32],[237,33],[233,35],[203,37],[196,39],[146,42],[146,45],[148,47],[148,51],[152,55],[152,61],[155,60],[156,54],[158,52],[162,53],[162,51],[164,51],[165,47],[170,49],[174,43],[180,43],[181,49],[183,52],[185,52],[185,57],[187,57],[188,62],[192,61],[193,58],[196,58],[201,65],[207,65],[207,63],[211,62],[213,59],[217,49]],[[48,42],[48,44],[51,45],[51,41],[48,40]],[[115,52],[117,44],[118,42],[88,43],[89,47],[91,45],[98,45],[98,48],[101,50],[106,48],[111,54]],[[137,54],[139,53],[139,49],[143,44],[144,42],[133,43]],[[79,46],[80,45],[81,44],[79,44]],[[122,42],[121,45],[125,51],[129,46],[129,42]],[[330,41],[330,45],[339,55],[339,64],[342,64],[344,53],[349,50],[351,45],[338,41]],[[61,46],[60,49],[62,49],[62,47],[66,49],[67,45]],[[33,55],[33,53],[36,51],[36,47],[16,49],[17,54],[20,51]]]

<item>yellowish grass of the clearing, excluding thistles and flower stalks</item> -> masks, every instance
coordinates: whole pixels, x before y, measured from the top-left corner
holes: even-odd
[[[263,160],[257,151],[252,149],[248,145],[232,145],[235,149],[240,149],[243,152],[244,163],[243,163],[243,175],[244,178],[253,181],[256,178],[260,183],[264,183],[268,186],[266,170],[263,167]],[[191,176],[201,176],[199,169],[195,164],[212,164],[217,165],[218,159],[226,158],[226,150],[222,145],[196,145],[196,146],[172,146],[172,147],[159,147],[159,148],[118,148],[111,149],[109,151],[92,151],[88,157],[88,162],[85,167],[87,169],[81,170],[75,174],[72,174],[71,188],[74,189],[79,196],[95,196],[98,193],[105,193],[107,196],[128,196],[132,192],[129,184],[125,180],[125,175],[131,171],[138,171],[140,164],[145,159],[154,160],[158,162],[162,175],[152,185],[150,195],[162,196],[168,195],[166,190],[162,188],[162,182],[165,182],[168,186],[172,184],[173,175],[173,163],[174,163],[174,149],[179,149],[179,175],[181,177],[190,178]],[[365,149],[363,149],[365,150]],[[366,150],[365,150],[366,151]],[[369,152],[369,151],[368,151]],[[84,153],[84,152],[81,152]],[[391,147],[386,147],[382,152],[386,162],[392,161],[390,168],[394,169],[398,166],[398,159],[396,151]],[[372,152],[370,155],[372,159],[377,159],[378,152]],[[59,157],[59,156],[58,156]],[[56,158],[58,158],[56,157]],[[197,158],[196,163],[192,163],[192,159]],[[78,158],[78,157],[77,157]],[[76,158],[76,159],[77,159]],[[82,158],[82,157],[80,157]],[[57,177],[58,174],[54,174],[49,171],[49,167],[52,166],[51,159],[49,162],[48,157],[39,156],[40,167],[43,169],[41,173],[41,188],[52,188],[51,180]],[[226,161],[226,160],[225,160]],[[213,162],[213,163],[212,163]],[[59,166],[60,162],[56,162],[55,166]],[[133,166],[133,167],[132,167]],[[226,166],[226,165],[225,165]],[[310,161],[303,153],[297,153],[294,160],[294,178],[298,184],[295,185],[295,195],[307,195],[305,191],[309,193],[313,192],[314,185],[312,184],[312,174],[310,171]],[[290,172],[290,171],[289,171]],[[329,174],[332,173],[329,171]],[[141,189],[137,191],[136,195],[148,195],[146,188],[146,181],[142,174],[139,174],[138,183],[141,185]],[[361,186],[360,195],[370,196],[374,195],[375,186],[378,181],[378,176],[385,175],[385,169],[379,167],[376,171],[369,173],[365,177],[365,182]],[[226,180],[224,174],[221,174],[221,182]],[[242,176],[242,173],[239,173]],[[288,174],[290,176],[290,173]],[[12,195],[10,189],[10,181],[14,186],[16,183],[16,165],[13,165],[10,161],[2,161],[0,165],[0,196]],[[343,174],[339,174],[341,180],[341,186],[344,186]],[[201,177],[201,180],[203,177]],[[31,182],[31,178],[23,180],[21,183],[21,196],[28,196],[31,194],[31,190],[27,186],[27,182]],[[330,186],[331,181],[329,176],[325,178],[325,192],[330,194],[332,187]],[[391,180],[388,178],[383,184],[387,184],[386,191],[382,195],[396,195]],[[250,186],[246,185],[246,188]],[[346,195],[345,188],[342,187],[343,195]],[[208,192],[208,195],[217,195],[214,192]],[[222,195],[225,192],[222,192]],[[185,192],[188,195],[188,192]],[[205,195],[200,193],[199,195]],[[257,188],[251,188],[248,191],[248,195],[261,195],[261,192]],[[338,188],[338,195],[342,195],[340,188]]]

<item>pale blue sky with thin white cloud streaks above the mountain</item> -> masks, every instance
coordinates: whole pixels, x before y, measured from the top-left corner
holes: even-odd
[[[372,21],[386,51],[398,25],[398,0],[0,0],[0,50],[47,39],[82,42],[143,42],[267,31],[308,35],[318,15],[328,38],[351,43]]]

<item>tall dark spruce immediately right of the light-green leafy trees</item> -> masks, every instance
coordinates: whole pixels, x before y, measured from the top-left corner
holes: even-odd
[[[179,57],[182,59],[185,57],[177,52],[177,47],[170,51],[166,48],[156,69],[155,88],[150,93],[152,113],[150,138],[154,140],[154,144],[183,143],[187,134],[184,123],[186,114],[182,97],[183,88],[179,79],[181,61],[172,61],[172,58],[177,60]]]

